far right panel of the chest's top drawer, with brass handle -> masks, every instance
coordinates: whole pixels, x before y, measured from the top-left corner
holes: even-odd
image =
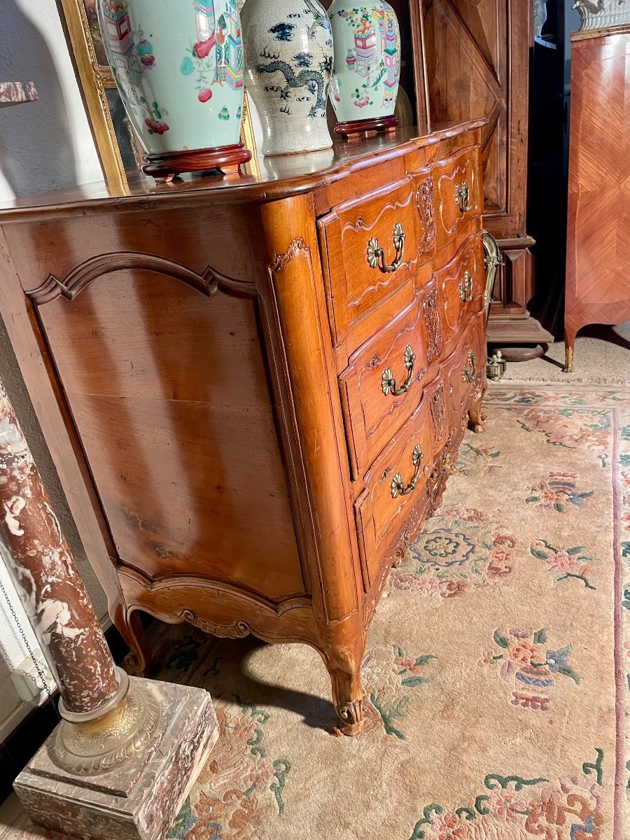
[[[476,149],[444,160],[433,170],[433,197],[438,248],[472,232],[482,208],[482,184]]]

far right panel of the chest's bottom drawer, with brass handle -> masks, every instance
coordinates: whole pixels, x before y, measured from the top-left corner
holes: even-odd
[[[459,423],[486,375],[486,319],[480,312],[465,328],[457,349],[442,368],[451,426]]]

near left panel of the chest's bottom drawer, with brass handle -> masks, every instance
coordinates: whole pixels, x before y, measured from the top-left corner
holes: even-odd
[[[355,502],[360,551],[369,584],[383,558],[406,528],[407,518],[426,495],[433,461],[428,400],[422,402],[366,476],[365,491]]]

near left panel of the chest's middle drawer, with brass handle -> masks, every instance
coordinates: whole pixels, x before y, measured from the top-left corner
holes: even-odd
[[[422,395],[427,354],[423,294],[365,342],[339,376],[354,478],[388,444]]]

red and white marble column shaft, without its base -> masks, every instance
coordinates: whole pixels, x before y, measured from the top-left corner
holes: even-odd
[[[9,572],[63,704],[95,711],[118,691],[116,666],[2,384],[0,517]]]

